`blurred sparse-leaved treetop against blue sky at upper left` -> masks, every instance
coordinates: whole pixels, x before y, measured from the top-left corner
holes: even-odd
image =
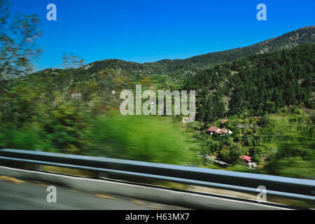
[[[0,0],[0,85],[34,71],[32,62],[42,51],[36,45],[41,36],[38,15],[11,15],[10,6],[9,0]]]

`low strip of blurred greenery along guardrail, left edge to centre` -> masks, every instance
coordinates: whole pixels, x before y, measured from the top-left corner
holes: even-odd
[[[0,147],[94,155],[127,160],[192,164],[197,146],[180,123],[153,116],[95,116],[69,104],[50,111],[41,123],[0,129]]]

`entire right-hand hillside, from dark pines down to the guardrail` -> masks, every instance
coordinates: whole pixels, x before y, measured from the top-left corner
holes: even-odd
[[[202,144],[201,155],[238,171],[246,171],[239,158],[248,155],[260,168],[256,172],[311,178],[314,62],[315,44],[305,44],[216,65],[188,78],[185,87],[197,92],[201,123],[195,138]],[[232,134],[209,135],[211,126]]]

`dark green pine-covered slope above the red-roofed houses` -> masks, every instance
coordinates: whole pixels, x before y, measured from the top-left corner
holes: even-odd
[[[299,45],[214,66],[186,80],[197,91],[197,119],[211,121],[248,111],[275,113],[283,106],[314,108],[315,44]]]

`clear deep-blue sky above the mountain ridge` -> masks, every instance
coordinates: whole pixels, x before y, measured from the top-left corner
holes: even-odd
[[[46,20],[48,3],[57,6],[57,21]],[[256,19],[258,3],[267,6],[267,21]],[[41,17],[40,69],[62,64],[62,52],[87,63],[183,59],[315,25],[314,0],[13,0],[13,10]]]

